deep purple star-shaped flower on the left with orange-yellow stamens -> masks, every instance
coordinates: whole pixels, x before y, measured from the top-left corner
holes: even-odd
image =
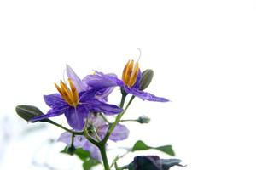
[[[60,116],[65,114],[68,124],[75,130],[82,130],[84,128],[84,119],[88,116],[90,111],[103,112],[106,115],[118,114],[122,111],[116,105],[108,105],[99,99],[95,98],[98,89],[91,88],[90,90],[81,92],[77,90],[71,78],[68,78],[70,88],[67,84],[61,81],[55,87],[60,94],[44,95],[44,101],[51,109],[46,115],[33,117],[31,122],[49,118],[52,116]],[[79,87],[78,84],[76,86]]]

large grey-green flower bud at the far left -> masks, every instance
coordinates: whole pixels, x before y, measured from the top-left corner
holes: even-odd
[[[34,116],[44,115],[42,111],[32,105],[18,105],[16,106],[16,112],[21,118],[23,118],[27,122],[31,120]],[[40,122],[44,121],[45,120],[41,120]]]

